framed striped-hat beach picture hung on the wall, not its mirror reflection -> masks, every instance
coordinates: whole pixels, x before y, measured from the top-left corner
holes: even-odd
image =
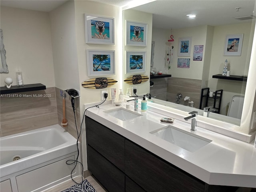
[[[84,14],[85,40],[91,44],[114,44],[114,18]]]

